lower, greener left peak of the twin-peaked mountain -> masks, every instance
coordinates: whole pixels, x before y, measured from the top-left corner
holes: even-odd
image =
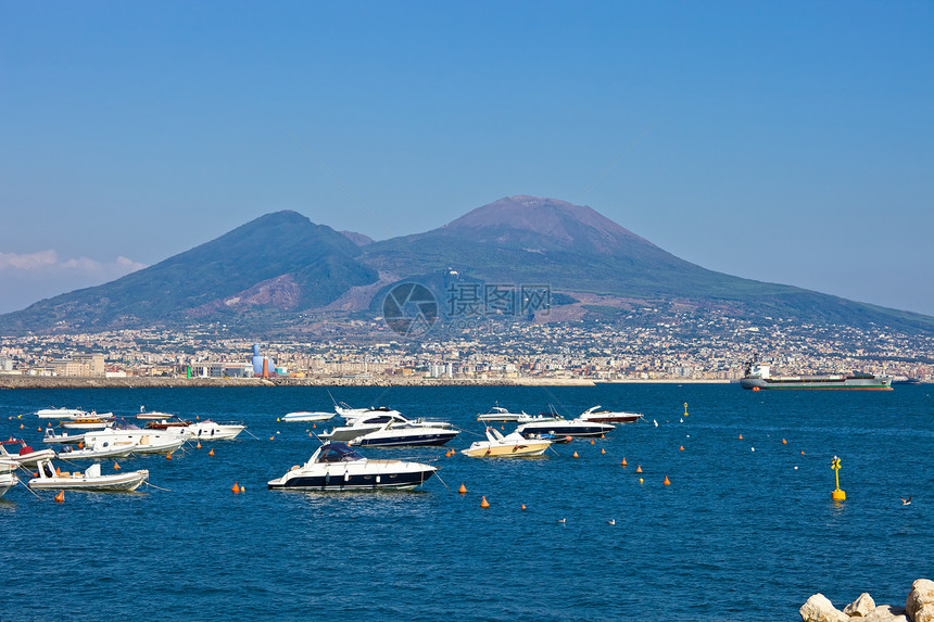
[[[0,329],[65,322],[93,330],[318,308],[377,279],[358,256],[357,245],[330,227],[276,212],[115,281],[2,316]]]

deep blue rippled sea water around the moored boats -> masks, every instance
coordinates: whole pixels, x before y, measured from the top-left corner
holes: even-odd
[[[450,420],[465,430],[450,444],[458,449],[481,432],[477,412],[497,401],[527,411],[552,404],[567,416],[603,404],[644,412],[647,422],[538,459],[370,448],[369,457],[431,461],[443,482],[313,494],[268,491],[266,482],[316,446],[310,423],[276,418],[330,409],[324,389],[2,391],[0,436],[36,446],[38,419],[15,417],[48,406],[130,416],[146,405],[239,420],[256,439],[244,433],[171,461],[119,460],[124,471],[149,469],[171,492],[67,492],[56,504],[51,493],[40,500],[11,490],[0,499],[0,619],[796,620],[817,592],[838,608],[862,592],[903,605],[914,579],[934,575],[929,386],[331,392],[351,405]],[[840,504],[830,495],[834,455],[847,495]],[[104,472],[112,467],[103,462]],[[244,494],[231,493],[235,481]],[[462,483],[463,496],[452,492]],[[907,495],[913,500],[903,507]]]

